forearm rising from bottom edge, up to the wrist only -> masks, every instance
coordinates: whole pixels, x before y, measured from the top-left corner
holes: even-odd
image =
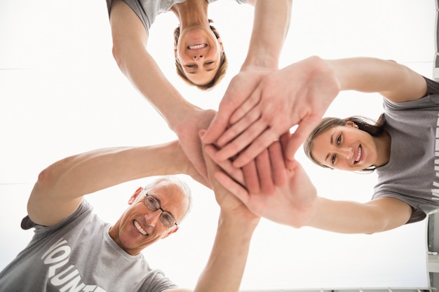
[[[235,292],[239,290],[250,248],[250,239],[259,220],[219,216],[215,242],[195,292]]]

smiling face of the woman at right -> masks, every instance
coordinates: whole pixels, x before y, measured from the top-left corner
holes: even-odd
[[[378,157],[374,138],[352,122],[318,134],[313,140],[311,155],[320,165],[348,171],[370,167]]]

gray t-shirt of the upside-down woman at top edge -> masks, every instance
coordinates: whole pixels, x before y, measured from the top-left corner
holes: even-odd
[[[130,6],[131,9],[137,14],[143,23],[144,28],[149,33],[149,28],[156,20],[157,15],[168,12],[171,7],[177,3],[182,3],[185,0],[123,0]],[[207,0],[208,3],[212,3],[218,0]],[[245,4],[247,0],[234,0],[238,4]],[[107,0],[108,13],[112,6],[112,0]]]

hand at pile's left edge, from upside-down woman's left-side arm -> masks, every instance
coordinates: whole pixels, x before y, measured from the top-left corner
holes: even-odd
[[[195,169],[206,181],[208,181],[208,172],[198,132],[208,127],[213,116],[215,116],[215,111],[213,110],[194,109],[184,120],[180,120],[180,123],[174,129],[187,158],[189,158]]]

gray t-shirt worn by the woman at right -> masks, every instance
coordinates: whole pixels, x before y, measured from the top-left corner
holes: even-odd
[[[439,209],[439,83],[427,78],[425,97],[411,102],[384,99],[384,130],[391,136],[389,162],[376,169],[373,199],[394,197],[410,204],[407,223]]]

